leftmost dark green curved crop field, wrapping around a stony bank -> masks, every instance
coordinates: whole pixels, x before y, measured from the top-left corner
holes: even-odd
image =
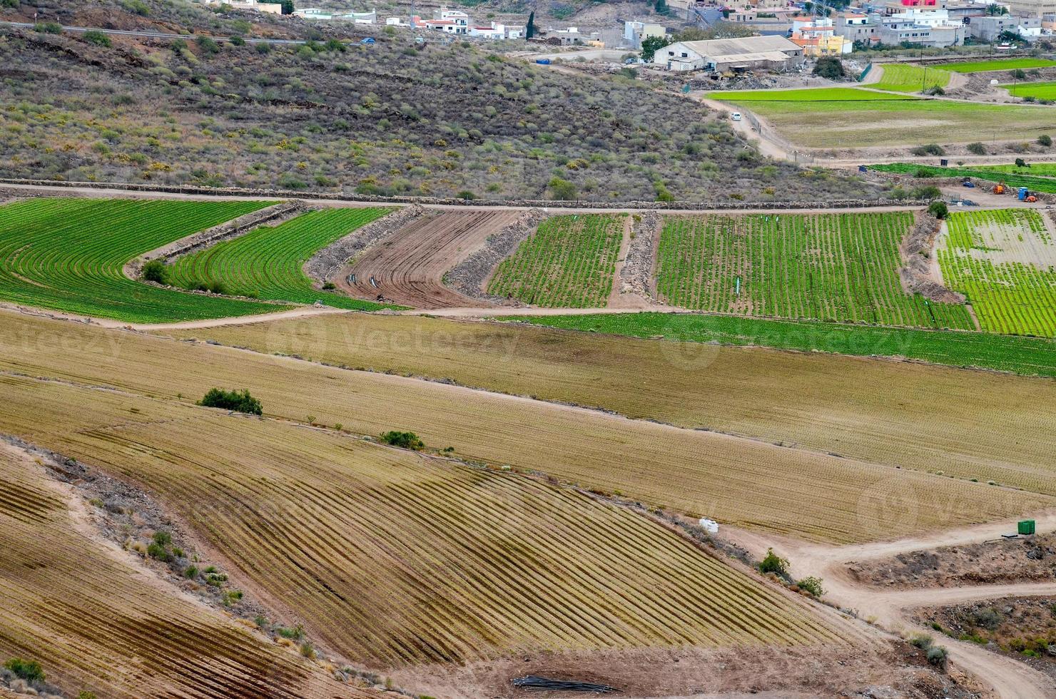
[[[139,323],[246,316],[272,304],[184,294],[121,267],[268,202],[35,199],[0,207],[0,300]]]

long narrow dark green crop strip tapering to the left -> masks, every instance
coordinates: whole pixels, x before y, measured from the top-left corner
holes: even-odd
[[[514,316],[495,320],[672,342],[905,358],[947,366],[1056,378],[1056,341],[1044,338],[648,311]]]

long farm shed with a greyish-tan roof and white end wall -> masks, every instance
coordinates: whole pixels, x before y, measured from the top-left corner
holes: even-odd
[[[782,36],[678,41],[657,51],[654,63],[668,71],[786,70],[803,62],[804,50]]]

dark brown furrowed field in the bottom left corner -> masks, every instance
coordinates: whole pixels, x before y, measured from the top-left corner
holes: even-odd
[[[14,397],[6,386],[3,395]],[[49,684],[71,696],[374,696],[326,680],[90,539],[81,530],[92,525],[75,522],[70,497],[43,466],[0,445],[4,660],[39,660]]]

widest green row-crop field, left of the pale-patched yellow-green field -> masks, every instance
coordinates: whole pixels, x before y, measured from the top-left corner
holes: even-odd
[[[700,310],[972,329],[963,306],[926,303],[899,281],[909,212],[667,216],[657,292]]]

